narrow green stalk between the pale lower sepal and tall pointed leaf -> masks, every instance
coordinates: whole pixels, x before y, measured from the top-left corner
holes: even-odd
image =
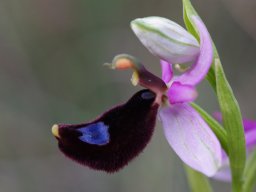
[[[204,111],[200,106],[195,103],[190,103],[190,105],[203,117],[205,122],[210,126],[216,137],[221,143],[221,147],[228,154],[228,142],[227,142],[227,132],[226,130],[216,121],[211,115]]]

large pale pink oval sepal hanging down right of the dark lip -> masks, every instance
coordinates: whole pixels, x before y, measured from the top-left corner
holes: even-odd
[[[177,155],[193,169],[213,176],[221,165],[221,146],[202,117],[188,104],[160,110],[164,134]]]

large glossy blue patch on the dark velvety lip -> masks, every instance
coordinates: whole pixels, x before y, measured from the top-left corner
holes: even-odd
[[[109,142],[109,126],[103,122],[95,123],[78,129],[83,135],[79,139],[93,145],[105,145]]]

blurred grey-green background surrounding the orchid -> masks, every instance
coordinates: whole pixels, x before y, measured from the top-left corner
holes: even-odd
[[[256,111],[256,2],[194,0],[220,52],[244,115]],[[65,158],[51,134],[54,123],[91,120],[126,101],[139,87],[129,72],[102,67],[129,53],[160,75],[158,60],[129,23],[158,15],[181,25],[181,0],[0,0],[0,191],[188,191],[183,165],[158,123],[152,142],[116,174]],[[218,110],[207,82],[197,102]],[[216,191],[229,184],[212,181]]]

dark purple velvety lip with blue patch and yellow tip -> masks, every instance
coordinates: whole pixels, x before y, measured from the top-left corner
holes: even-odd
[[[155,93],[142,90],[90,123],[55,125],[60,150],[92,169],[118,171],[149,142],[159,107],[155,98]]]

